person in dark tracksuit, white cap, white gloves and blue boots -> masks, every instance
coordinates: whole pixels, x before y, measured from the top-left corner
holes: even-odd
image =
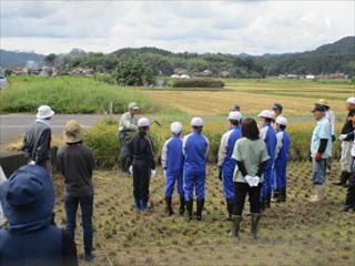
[[[138,121],[139,132],[128,144],[130,161],[133,172],[133,197],[136,211],[149,208],[149,185],[150,178],[155,177],[154,144],[148,136],[150,121],[141,117]]]

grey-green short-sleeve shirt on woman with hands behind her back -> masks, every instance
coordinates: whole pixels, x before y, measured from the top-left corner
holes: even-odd
[[[242,137],[236,141],[232,157],[239,162],[242,162],[247,174],[252,176],[256,175],[258,165],[270,158],[266,144],[263,140],[258,139],[252,141],[246,137]],[[237,166],[235,166],[234,170],[233,181],[246,183]],[[260,183],[263,181],[264,176],[262,175],[260,176]]]

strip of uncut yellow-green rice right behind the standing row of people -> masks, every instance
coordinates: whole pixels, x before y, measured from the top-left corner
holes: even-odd
[[[182,136],[191,133],[190,123],[184,120]],[[291,136],[290,161],[306,161],[310,160],[310,145],[312,132],[315,122],[307,123],[290,123],[286,132]],[[336,125],[339,132],[341,124]],[[204,123],[202,133],[209,139],[209,163],[215,164],[217,162],[217,153],[221,143],[222,134],[226,131],[227,124],[224,121],[207,121]],[[171,137],[170,124],[164,123],[164,126],[158,127],[152,125],[149,132],[154,142],[155,160],[160,162],[161,152],[164,142]],[[118,140],[118,122],[102,121],[97,123],[88,131],[85,143],[93,150],[97,164],[101,167],[116,167],[119,165],[119,157],[121,146]],[[341,143],[336,141],[333,143],[333,157],[338,160],[341,156]]]

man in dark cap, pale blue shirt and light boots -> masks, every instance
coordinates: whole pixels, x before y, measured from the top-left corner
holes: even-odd
[[[312,112],[317,121],[311,141],[313,184],[316,188],[316,194],[310,201],[320,202],[325,197],[326,163],[327,158],[332,156],[332,124],[325,116],[324,106],[315,105]]]

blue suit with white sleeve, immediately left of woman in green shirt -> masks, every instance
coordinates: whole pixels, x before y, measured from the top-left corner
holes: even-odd
[[[239,125],[230,127],[221,140],[219,152],[219,167],[222,170],[222,184],[224,196],[227,200],[234,198],[233,173],[236,161],[232,158],[235,142],[241,137],[241,127]]]

